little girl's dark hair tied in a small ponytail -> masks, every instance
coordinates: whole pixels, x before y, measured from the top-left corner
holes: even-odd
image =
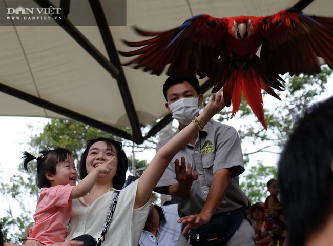
[[[28,171],[28,163],[32,160],[37,160],[36,183],[39,188],[51,187],[50,181],[46,178],[46,172],[56,174],[56,166],[60,162],[64,162],[68,157],[71,157],[71,152],[56,148],[54,150],[43,150],[39,152],[41,155],[35,157],[27,151],[23,152],[23,166]]]

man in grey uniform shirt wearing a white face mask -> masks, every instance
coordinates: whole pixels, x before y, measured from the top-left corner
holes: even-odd
[[[165,81],[163,93],[166,108],[179,122],[179,132],[199,114],[199,106],[203,102],[199,82],[192,77],[172,76]],[[161,140],[156,150],[177,132]],[[224,241],[217,245],[252,246],[254,231],[246,220],[250,201],[239,188],[238,175],[243,172],[243,155],[237,131],[210,120],[174,157],[155,191],[170,194],[178,202],[179,222],[184,223],[183,235],[189,229],[210,223],[213,216],[228,225],[226,229],[221,229],[219,237],[224,237]],[[182,234],[178,245],[191,245]]]

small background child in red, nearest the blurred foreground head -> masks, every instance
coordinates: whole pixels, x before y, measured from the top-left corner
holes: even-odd
[[[282,213],[282,206],[281,202],[278,198],[279,195],[279,185],[278,181],[276,179],[270,179],[267,182],[267,190],[270,193],[270,195],[266,198],[265,203],[264,203],[264,211],[266,209],[273,209],[274,211],[278,212],[279,214]],[[266,213],[264,213],[264,229],[267,231],[272,231],[273,229],[277,227],[283,226],[284,223],[280,221],[279,219],[276,219],[274,217],[269,217],[267,216]],[[273,235],[270,233],[270,237],[272,238],[272,243],[270,246],[276,246],[278,239],[283,239],[286,238],[286,231],[283,230],[280,235]],[[279,240],[280,241],[280,240]],[[282,240],[284,241],[284,240]]]

